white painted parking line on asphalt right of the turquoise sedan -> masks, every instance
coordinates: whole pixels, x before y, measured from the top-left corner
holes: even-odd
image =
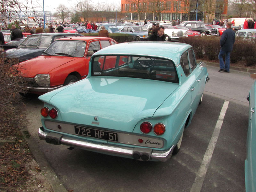
[[[228,108],[228,104],[229,104],[229,101],[225,101],[223,106],[222,106],[222,109],[220,111],[219,119],[218,119],[218,121],[215,125],[215,128],[214,128],[214,131],[212,133],[212,138],[211,138],[211,140],[209,142],[209,145],[206,149],[203,161],[202,161],[202,163],[200,165],[200,168],[199,168],[199,170],[196,174],[196,178],[195,178],[195,181],[192,185],[192,188],[191,188],[190,192],[200,192],[201,191],[201,188],[202,188],[202,185],[203,185],[203,182],[204,182],[204,178],[205,178],[208,166],[209,166],[211,158],[212,158],[212,153],[214,151],[214,148],[216,146],[216,142],[217,142],[219,134],[220,134],[220,129],[221,129],[223,119],[225,117],[225,114],[226,114],[226,111],[227,111],[227,108]]]

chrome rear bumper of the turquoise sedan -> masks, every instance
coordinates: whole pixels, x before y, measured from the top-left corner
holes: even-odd
[[[140,148],[140,147],[123,147],[123,146],[115,146],[106,144],[98,144],[88,142],[86,140],[79,140],[76,138],[71,138],[68,136],[64,136],[58,133],[47,133],[44,132],[44,128],[40,127],[38,130],[38,135],[40,140],[46,140],[48,143],[52,144],[63,144],[70,147],[81,148],[84,150],[114,155],[114,156],[122,156],[127,158],[133,158],[141,161],[167,161],[172,156],[172,151],[174,146],[172,146],[167,151],[157,151],[148,148]]]

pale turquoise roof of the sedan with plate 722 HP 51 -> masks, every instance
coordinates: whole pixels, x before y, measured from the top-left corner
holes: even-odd
[[[173,48],[175,46],[175,48]],[[183,52],[192,46],[185,43],[178,42],[126,42],[101,49],[93,55],[102,54],[124,54],[124,55],[148,55],[155,57],[163,57],[172,59],[175,64],[179,64],[180,57]],[[171,50],[171,51],[170,51]]]

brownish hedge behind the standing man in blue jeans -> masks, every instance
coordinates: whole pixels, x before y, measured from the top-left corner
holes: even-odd
[[[193,46],[196,58],[206,58],[208,60],[218,60],[220,52],[220,37],[186,37],[180,38],[180,42]],[[230,62],[236,63],[239,60],[245,60],[246,66],[256,64],[256,42],[236,38],[233,45],[233,51],[230,54]]]

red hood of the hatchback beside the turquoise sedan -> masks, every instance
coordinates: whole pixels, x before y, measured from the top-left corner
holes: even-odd
[[[64,65],[76,57],[63,57],[63,56],[39,56],[21,62],[16,65],[23,77],[34,78],[37,74],[48,74],[51,70]]]

